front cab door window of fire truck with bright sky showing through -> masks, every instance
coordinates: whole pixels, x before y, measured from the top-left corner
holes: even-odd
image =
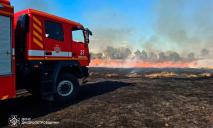
[[[72,40],[75,42],[84,43],[84,33],[82,30],[73,30],[72,31]]]

